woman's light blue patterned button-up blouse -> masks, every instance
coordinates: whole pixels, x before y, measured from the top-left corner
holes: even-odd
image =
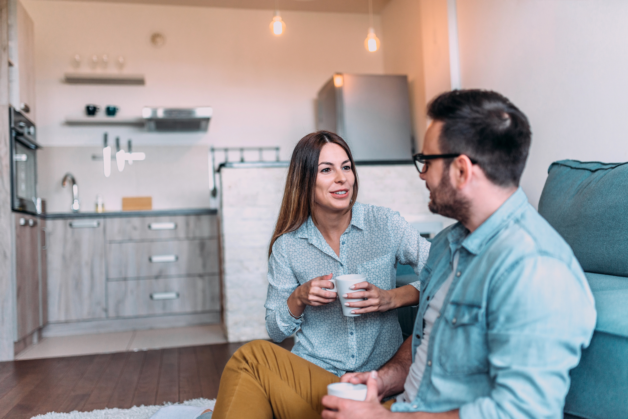
[[[288,297],[299,285],[328,273],[333,277],[362,273],[371,284],[393,289],[397,264],[410,265],[418,275],[429,252],[430,242],[389,208],[355,203],[351,223],[340,236],[340,257],[308,218],[273,245],[264,305],[269,336],[281,342],[300,327],[292,352],[338,376],[378,369],[403,340],[397,310],[345,317],[337,299],[306,306],[297,320],[288,312]],[[411,285],[420,289],[419,282]]]

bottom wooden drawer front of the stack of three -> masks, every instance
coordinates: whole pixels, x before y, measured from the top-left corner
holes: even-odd
[[[176,298],[159,299],[168,294]],[[109,282],[107,307],[109,317],[219,311],[219,277]]]

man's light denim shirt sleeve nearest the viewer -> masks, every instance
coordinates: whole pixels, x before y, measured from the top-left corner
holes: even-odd
[[[562,417],[569,371],[595,327],[593,299],[573,290],[573,273],[551,257],[521,260],[504,276],[518,280],[498,280],[489,290],[487,343],[494,388],[489,396],[461,406],[460,418]]]

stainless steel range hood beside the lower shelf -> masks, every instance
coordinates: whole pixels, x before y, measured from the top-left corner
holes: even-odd
[[[144,107],[142,117],[146,121],[146,130],[148,131],[207,131],[209,120],[212,117],[212,108],[208,106],[193,108]]]

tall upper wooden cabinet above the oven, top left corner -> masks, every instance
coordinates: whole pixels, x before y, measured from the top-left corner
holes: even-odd
[[[35,121],[35,26],[19,0],[9,0],[9,102]]]

